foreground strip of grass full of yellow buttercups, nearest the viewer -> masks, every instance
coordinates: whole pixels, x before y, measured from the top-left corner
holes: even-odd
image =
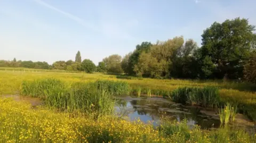
[[[0,142],[255,142],[256,136],[237,128],[205,131],[189,129],[183,122],[168,121],[154,129],[152,124],[129,122],[105,116],[70,117],[48,108],[0,98]]]

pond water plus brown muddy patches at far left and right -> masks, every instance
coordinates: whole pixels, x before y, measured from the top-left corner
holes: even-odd
[[[19,95],[4,95],[3,97],[11,97],[15,101],[25,101],[31,104],[32,107],[42,105],[42,100],[39,98],[19,96]],[[138,118],[147,123],[153,122],[156,126],[162,116],[177,121],[187,120],[187,124],[193,127],[195,124],[200,125],[203,129],[219,128],[219,111],[212,108],[203,108],[196,106],[184,106],[171,102],[165,98],[159,97],[116,97],[115,115],[123,119],[131,121]],[[245,128],[255,129],[255,125],[242,114],[237,114],[235,125]]]

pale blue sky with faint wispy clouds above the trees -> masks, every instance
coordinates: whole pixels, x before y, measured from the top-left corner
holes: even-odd
[[[256,25],[255,0],[0,0],[0,59],[82,60],[98,64],[142,41],[201,35],[238,16]]]

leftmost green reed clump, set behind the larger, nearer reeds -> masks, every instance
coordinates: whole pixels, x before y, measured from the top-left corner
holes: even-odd
[[[49,90],[62,90],[66,88],[64,82],[49,78],[36,80],[23,80],[21,83],[20,94],[31,97],[45,98],[45,92]]]

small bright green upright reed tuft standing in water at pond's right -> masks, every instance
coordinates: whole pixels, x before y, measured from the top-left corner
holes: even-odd
[[[235,121],[237,105],[234,107],[227,103],[224,108],[219,110],[221,124],[228,124],[230,121]]]

